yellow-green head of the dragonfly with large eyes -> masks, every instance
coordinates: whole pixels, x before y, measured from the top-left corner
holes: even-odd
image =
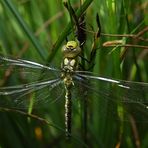
[[[64,54],[64,58],[76,58],[80,52],[81,48],[79,47],[79,43],[76,41],[68,41],[66,45],[63,46],[62,52]]]

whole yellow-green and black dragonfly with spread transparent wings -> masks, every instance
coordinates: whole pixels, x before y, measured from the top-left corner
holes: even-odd
[[[79,55],[81,48],[77,41],[68,41],[63,46],[62,53],[63,60],[60,69],[33,61],[0,56],[0,71],[4,72],[4,67],[7,67],[7,69],[9,67],[9,69],[14,69],[12,73],[15,73],[15,69],[21,68],[20,73],[22,73],[22,77],[26,74],[29,80],[29,82],[24,82],[24,84],[1,86],[0,96],[5,96],[6,99],[0,99],[0,105],[16,108],[28,107],[30,99],[27,98],[35,92],[33,105],[38,104],[40,106],[42,101],[46,104],[46,102],[51,101],[50,98],[52,97],[55,97],[54,101],[59,100],[60,94],[63,94],[64,90],[65,133],[67,138],[71,136],[72,98],[77,97],[75,94],[81,95],[83,99],[87,95],[88,98],[93,96],[95,101],[100,100],[101,98],[99,97],[103,96],[102,101],[108,100],[110,105],[113,104],[113,107],[114,104],[121,103],[125,106],[126,110],[133,109],[134,107],[132,113],[140,115],[141,121],[147,121],[148,83],[99,77],[93,72],[80,70]],[[41,77],[37,77],[37,79],[36,70],[41,71]],[[76,93],[76,91],[79,93]],[[51,95],[52,93],[53,96]],[[8,96],[10,96],[10,100]],[[144,117],[142,118],[142,116]]]

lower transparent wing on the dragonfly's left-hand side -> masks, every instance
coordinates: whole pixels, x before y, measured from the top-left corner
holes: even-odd
[[[49,105],[59,99],[57,92],[62,93],[60,79],[0,88],[0,106],[7,108],[27,109],[33,100],[33,107]],[[24,87],[24,88],[23,88]]]

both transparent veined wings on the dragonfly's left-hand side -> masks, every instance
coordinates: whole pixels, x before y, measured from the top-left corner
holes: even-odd
[[[0,56],[0,105],[3,107],[41,107],[63,94],[60,70],[21,59]]]

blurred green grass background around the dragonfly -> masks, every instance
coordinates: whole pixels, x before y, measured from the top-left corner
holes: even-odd
[[[98,76],[147,82],[147,0],[71,0],[70,2],[77,15],[86,13],[87,40],[84,46],[86,58],[91,53],[94,43],[92,32],[98,30],[96,14],[99,15],[101,35],[96,41],[94,72]],[[60,68],[61,47],[66,43],[66,38],[71,39],[70,22],[69,13],[62,0],[1,0],[0,53]],[[123,46],[103,46],[103,43],[115,40],[120,40]],[[16,80],[13,78],[9,81],[15,85]],[[80,129],[83,127],[78,115],[73,119],[75,124],[73,130],[76,132],[72,140],[70,142],[65,140],[63,100],[54,103],[49,110],[37,110],[34,113],[37,116],[33,117],[27,117],[21,112],[1,111],[0,148],[148,147],[146,122],[136,124],[135,130],[132,121],[120,123],[119,120],[111,118],[108,120],[104,115],[100,118],[102,120],[98,121],[97,112],[104,107],[99,106],[99,109],[95,105],[93,107],[91,114],[94,114],[93,118],[97,120],[93,126],[91,123],[88,124],[91,133],[88,130],[87,142],[81,137]]]

